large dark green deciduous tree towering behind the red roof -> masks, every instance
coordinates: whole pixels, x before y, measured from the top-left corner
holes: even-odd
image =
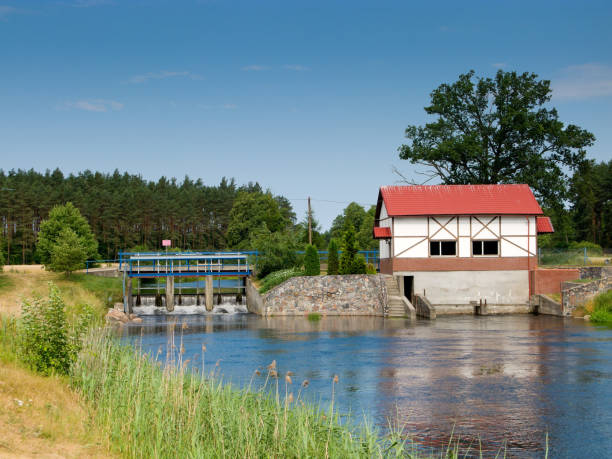
[[[595,137],[561,122],[551,94],[550,81],[533,73],[460,75],[431,93],[425,111],[436,119],[406,128],[400,158],[445,184],[527,183],[552,205],[567,196],[568,174]]]

